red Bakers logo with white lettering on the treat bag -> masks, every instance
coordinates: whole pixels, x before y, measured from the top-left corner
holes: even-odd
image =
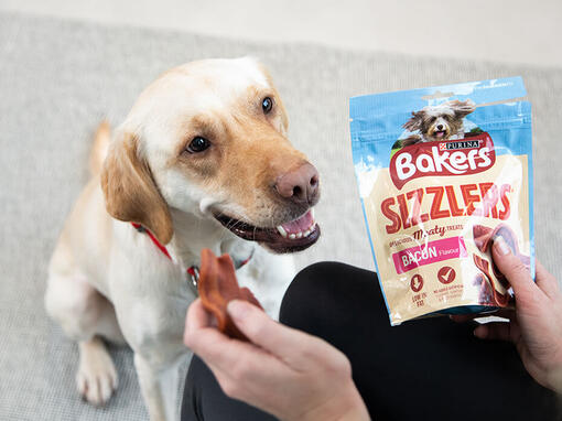
[[[402,148],[390,160],[390,177],[401,190],[410,180],[430,175],[466,175],[496,163],[494,142],[487,132],[463,140],[420,142]]]

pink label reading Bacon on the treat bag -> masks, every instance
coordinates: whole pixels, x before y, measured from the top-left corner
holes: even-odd
[[[397,273],[403,273],[420,266],[467,256],[463,238],[451,237],[395,252],[392,259]]]

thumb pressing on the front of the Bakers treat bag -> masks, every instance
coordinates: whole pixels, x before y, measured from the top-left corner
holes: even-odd
[[[532,280],[529,270],[521,260],[514,255],[506,240],[501,236],[497,236],[494,239],[491,249],[494,262],[514,288],[518,301],[521,302],[521,300],[527,301],[534,299],[537,296],[536,294],[541,291]]]

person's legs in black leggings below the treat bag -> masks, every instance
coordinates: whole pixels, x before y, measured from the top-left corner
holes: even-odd
[[[376,274],[367,270],[307,267],[287,291],[280,320],[347,355],[375,420],[562,420],[558,397],[534,382],[511,344],[477,339],[474,324],[447,317],[391,327]],[[224,395],[193,358],[182,420],[273,419]]]

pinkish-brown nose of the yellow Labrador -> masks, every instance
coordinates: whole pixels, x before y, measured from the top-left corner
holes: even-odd
[[[275,190],[281,197],[294,203],[313,205],[318,198],[318,172],[314,165],[305,163],[296,170],[280,175]]]

